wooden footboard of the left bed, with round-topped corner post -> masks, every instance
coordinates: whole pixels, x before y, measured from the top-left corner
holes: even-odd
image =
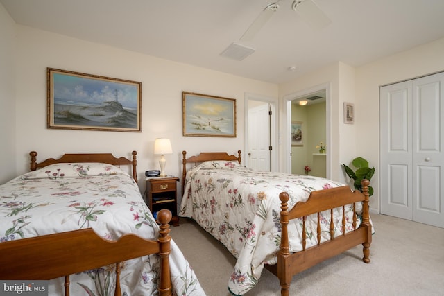
[[[171,295],[169,254],[171,212],[157,214],[160,235],[148,241],[135,234],[125,234],[118,241],[105,241],[91,228],[49,234],[0,243],[0,279],[49,280],[65,277],[65,295],[69,295],[69,275],[116,264],[115,294],[121,295],[120,263],[148,254],[159,254],[160,295]]]

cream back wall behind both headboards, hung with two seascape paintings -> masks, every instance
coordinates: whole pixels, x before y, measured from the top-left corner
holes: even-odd
[[[37,160],[62,153],[110,152],[130,157],[138,152],[138,177],[158,168],[153,155],[157,137],[169,137],[173,155],[166,172],[181,175],[182,150],[244,147],[244,94],[278,97],[278,85],[162,60],[140,53],[17,26],[17,173],[28,171],[28,153]],[[46,67],[142,82],[142,132],[53,130],[46,128]],[[182,91],[237,99],[237,137],[183,137]],[[144,191],[144,182],[139,182]]]

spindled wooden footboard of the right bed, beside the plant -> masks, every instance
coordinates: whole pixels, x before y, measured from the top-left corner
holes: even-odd
[[[280,252],[278,253],[278,264],[266,265],[266,267],[280,279],[281,295],[289,295],[289,288],[293,275],[325,261],[326,259],[341,254],[359,244],[364,246],[364,258],[362,260],[365,263],[370,263],[370,244],[372,241],[370,217],[368,214],[368,185],[370,185],[370,182],[368,180],[362,180],[361,184],[363,193],[359,191],[350,191],[349,186],[314,191],[310,194],[306,202],[298,202],[290,211],[288,211],[287,205],[289,200],[288,193],[280,193],[280,200],[282,202],[282,211],[280,213],[282,238]],[[321,241],[320,212],[330,210],[330,214],[333,216],[332,213],[334,208],[342,207],[342,209],[344,209],[345,205],[354,204],[355,209],[356,202],[363,202],[361,225],[356,228],[357,215],[353,215],[353,227],[355,230],[345,234],[345,214],[344,211],[342,211],[343,216],[341,227],[343,235],[334,237],[334,225],[331,223],[330,241],[319,243]],[[316,213],[318,214],[318,245],[305,249],[305,241],[307,239],[307,235],[305,234],[305,220],[307,216]],[[289,224],[289,220],[296,218],[302,218],[302,251],[290,253],[287,225]]]

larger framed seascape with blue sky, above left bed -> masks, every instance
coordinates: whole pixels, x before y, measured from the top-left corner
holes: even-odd
[[[47,127],[141,132],[142,82],[48,68]]]

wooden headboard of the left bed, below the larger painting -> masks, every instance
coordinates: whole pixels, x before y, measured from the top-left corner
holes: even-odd
[[[133,160],[127,159],[125,157],[114,157],[111,153],[74,153],[74,154],[64,154],[59,159],[49,158],[43,162],[37,163],[37,152],[31,151],[29,155],[31,156],[31,171],[35,171],[37,168],[44,168],[50,164],[60,164],[69,162],[101,162],[103,164],[112,164],[120,168],[121,165],[132,165],[133,166],[133,179],[137,183],[137,151],[133,151]]]

